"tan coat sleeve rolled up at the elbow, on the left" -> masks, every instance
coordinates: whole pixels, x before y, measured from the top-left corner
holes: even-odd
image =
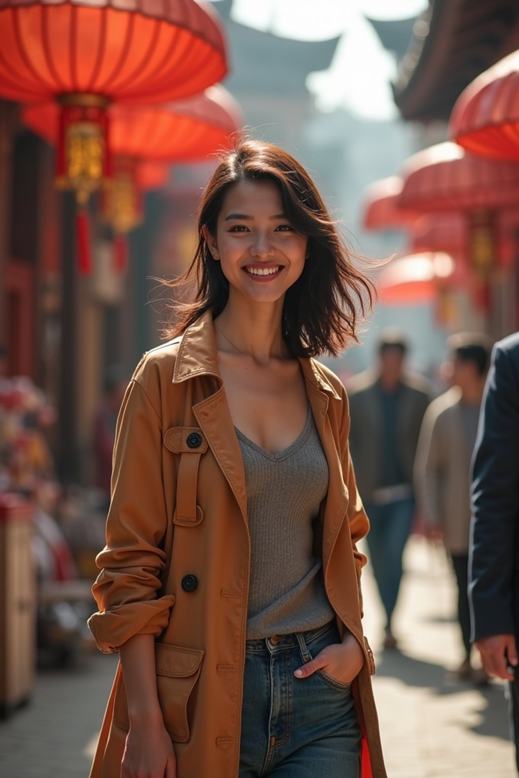
[[[158,596],[167,510],[157,406],[134,377],[117,419],[107,541],[96,557],[101,572],[92,588],[99,611],[88,622],[105,653],[139,633],[160,635],[175,601]]]

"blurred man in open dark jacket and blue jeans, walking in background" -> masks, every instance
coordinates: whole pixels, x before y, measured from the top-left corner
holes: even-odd
[[[408,345],[384,332],[377,370],[352,379],[350,447],[359,492],[370,517],[367,544],[386,614],[384,647],[395,648],[391,619],[402,580],[402,555],[415,513],[412,471],[429,387],[405,373]]]

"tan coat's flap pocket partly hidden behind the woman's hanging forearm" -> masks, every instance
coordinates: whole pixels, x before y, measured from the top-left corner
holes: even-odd
[[[156,682],[164,726],[175,743],[189,740],[188,699],[202,669],[204,651],[157,643]],[[128,701],[121,674],[114,701],[114,722],[129,730]]]

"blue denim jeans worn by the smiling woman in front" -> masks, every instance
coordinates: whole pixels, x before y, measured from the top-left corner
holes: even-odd
[[[247,640],[240,778],[358,778],[360,731],[350,684],[294,670],[331,643],[337,626]]]

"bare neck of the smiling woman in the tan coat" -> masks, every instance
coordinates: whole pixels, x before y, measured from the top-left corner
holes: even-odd
[[[254,303],[230,298],[215,319],[219,347],[251,356],[258,364],[266,364],[272,358],[286,359],[289,349],[282,338],[282,310],[282,300]],[[223,335],[223,339],[218,335]]]

